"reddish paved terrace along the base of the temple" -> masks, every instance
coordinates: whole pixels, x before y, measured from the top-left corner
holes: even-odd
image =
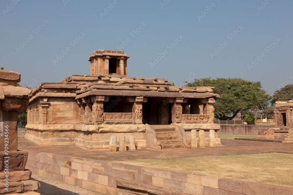
[[[193,148],[193,149],[165,149],[155,151],[150,149],[138,149],[136,151],[108,152],[107,149],[88,151],[78,146],[38,146],[25,138],[18,138],[18,149],[35,152],[48,152],[53,154],[90,158],[104,161],[126,161],[135,159],[176,158],[192,156],[226,155],[241,153],[285,152],[293,153],[293,144],[242,141],[222,139],[223,146]]]

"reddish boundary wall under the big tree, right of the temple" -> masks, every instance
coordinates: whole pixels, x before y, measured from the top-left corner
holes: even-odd
[[[275,128],[273,125],[220,125],[219,134],[258,135],[263,128]]]

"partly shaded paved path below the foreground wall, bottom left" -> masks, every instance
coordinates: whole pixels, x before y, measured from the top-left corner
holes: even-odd
[[[98,192],[59,182],[57,180],[40,177],[34,174],[32,174],[32,180],[40,182],[41,187],[37,192],[41,195],[102,195]]]

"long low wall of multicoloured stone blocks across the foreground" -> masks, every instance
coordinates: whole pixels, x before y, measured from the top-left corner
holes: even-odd
[[[293,194],[293,188],[28,151],[33,174],[103,194]]]

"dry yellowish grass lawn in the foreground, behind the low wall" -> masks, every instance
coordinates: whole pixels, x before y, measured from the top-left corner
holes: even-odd
[[[292,159],[293,155],[287,153],[261,153],[115,162],[293,187]]]

